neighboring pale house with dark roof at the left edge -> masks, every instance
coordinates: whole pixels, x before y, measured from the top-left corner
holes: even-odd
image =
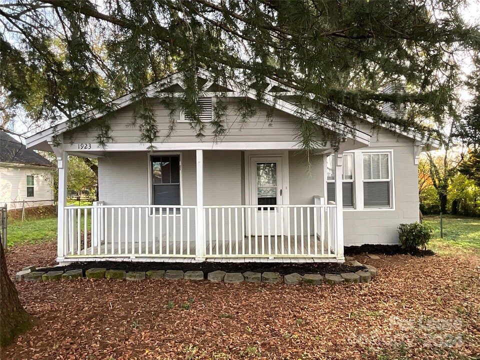
[[[0,130],[0,203],[8,209],[53,205],[54,165]]]

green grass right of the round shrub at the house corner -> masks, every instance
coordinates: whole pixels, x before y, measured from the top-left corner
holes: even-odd
[[[433,228],[428,248],[439,254],[456,252],[480,254],[480,218],[443,215],[443,238],[440,238],[440,216],[425,216],[423,222]]]

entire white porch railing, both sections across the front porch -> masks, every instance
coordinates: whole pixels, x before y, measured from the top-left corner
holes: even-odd
[[[336,205],[105,205],[64,208],[64,257],[336,257]],[[200,239],[198,239],[200,241]]]

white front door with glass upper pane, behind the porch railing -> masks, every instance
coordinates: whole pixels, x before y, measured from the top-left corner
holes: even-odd
[[[252,235],[280,234],[282,202],[281,157],[256,157],[251,159],[251,204],[258,205],[252,211]]]

